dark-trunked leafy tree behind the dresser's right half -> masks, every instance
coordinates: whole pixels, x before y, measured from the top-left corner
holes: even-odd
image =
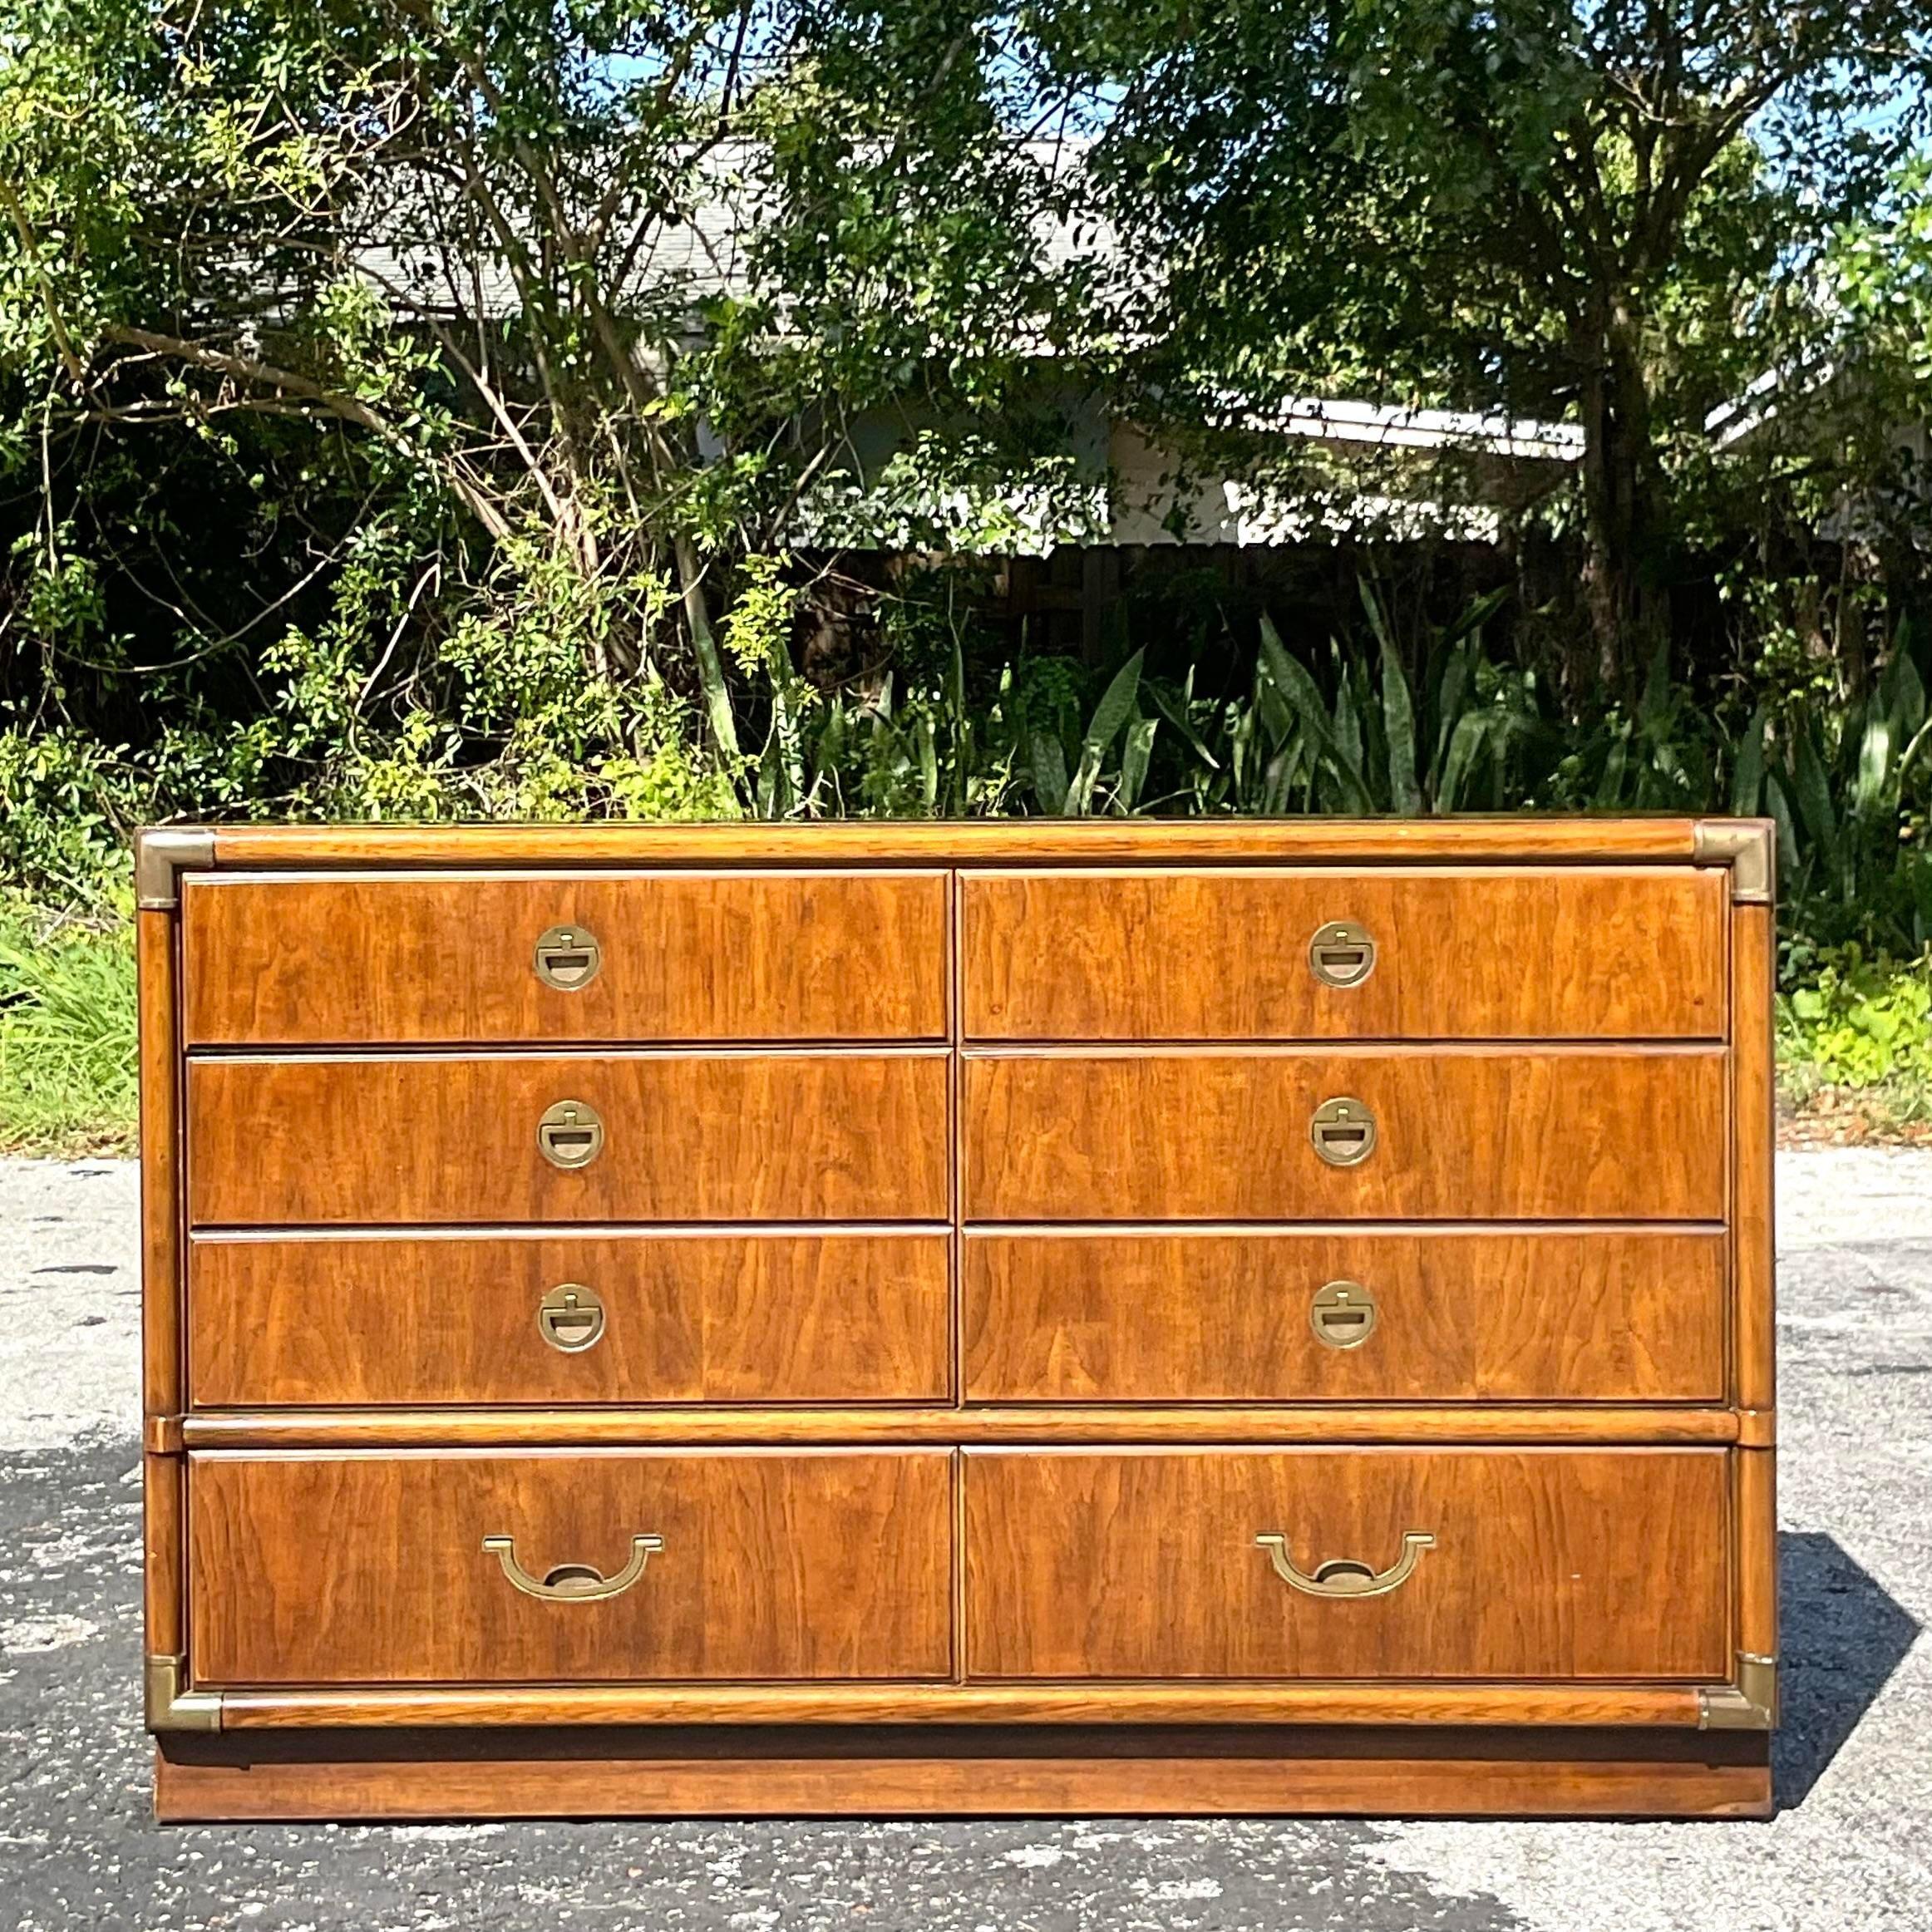
[[[1915,0],[1065,0],[1159,299],[1150,394],[1573,413],[1598,668],[1662,630],[1673,437],[1789,350],[1924,126]],[[1756,367],[1752,361],[1756,359]]]

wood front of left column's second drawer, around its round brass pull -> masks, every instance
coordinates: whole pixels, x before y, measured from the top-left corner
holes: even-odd
[[[943,1049],[191,1061],[189,1215],[943,1221],[945,1092]],[[537,1151],[560,1099],[603,1115],[587,1167]]]

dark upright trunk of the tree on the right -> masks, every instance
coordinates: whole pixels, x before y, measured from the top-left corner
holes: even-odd
[[[1656,446],[1640,321],[1627,298],[1604,303],[1582,344],[1584,611],[1594,665],[1571,663],[1631,697],[1665,636],[1656,522]]]

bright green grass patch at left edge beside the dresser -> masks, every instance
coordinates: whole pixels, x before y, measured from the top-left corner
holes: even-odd
[[[133,923],[0,898],[0,1153],[133,1153]]]

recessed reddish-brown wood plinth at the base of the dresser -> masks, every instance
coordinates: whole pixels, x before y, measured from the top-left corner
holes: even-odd
[[[1698,1731],[315,1731],[160,1741],[164,1824],[439,1818],[1768,1818],[1770,1739]]]

